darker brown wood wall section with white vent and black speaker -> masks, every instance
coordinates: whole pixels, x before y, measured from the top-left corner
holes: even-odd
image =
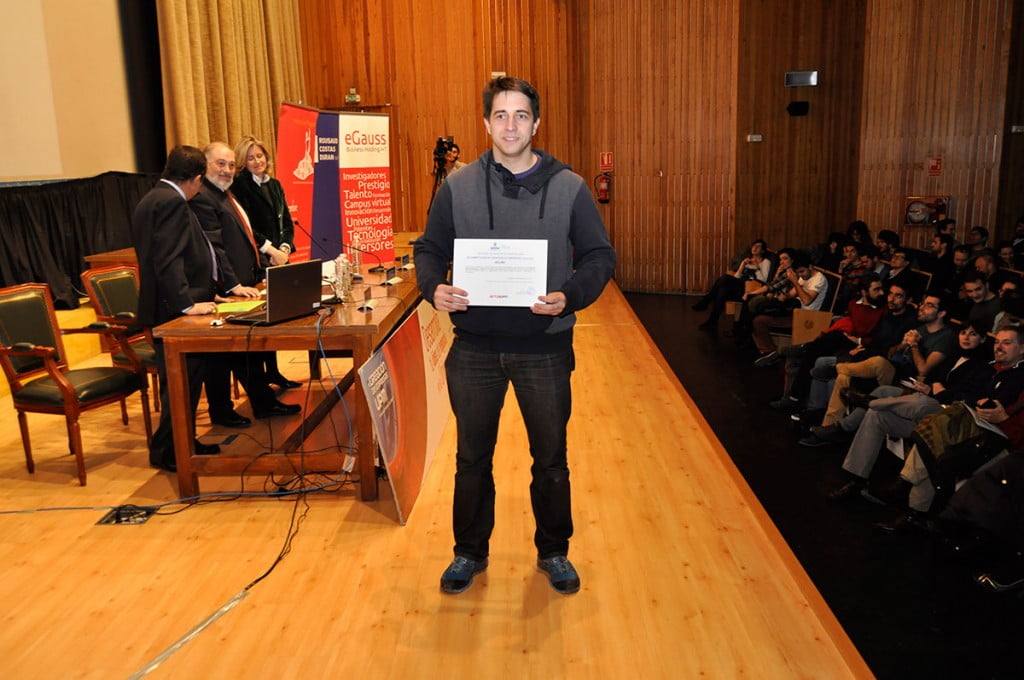
[[[856,218],[863,2],[743,2],[737,95],[737,249],[807,247]],[[817,87],[783,87],[786,71]],[[809,113],[793,117],[792,101]],[[750,133],[764,141],[746,142]]]

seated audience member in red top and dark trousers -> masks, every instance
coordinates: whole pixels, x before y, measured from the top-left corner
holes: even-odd
[[[871,342],[874,329],[886,313],[882,304],[885,290],[876,273],[865,273],[859,282],[860,297],[851,302],[845,316],[834,323],[820,336],[801,345],[782,350],[785,356],[785,382],[782,397],[771,402],[772,408],[795,410],[807,395],[810,371],[822,356],[847,353]],[[758,365],[760,366],[760,365]]]

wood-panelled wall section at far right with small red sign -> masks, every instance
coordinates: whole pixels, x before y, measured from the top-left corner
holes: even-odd
[[[905,196],[949,195],[961,237],[993,225],[1012,5],[868,3],[858,197],[868,224],[901,224]],[[937,177],[931,158],[942,159]],[[919,247],[931,240],[928,228],[903,233]]]

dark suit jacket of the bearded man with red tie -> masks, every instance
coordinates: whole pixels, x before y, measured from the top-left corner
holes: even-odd
[[[263,281],[264,257],[257,258],[249,230],[231,205],[228,193],[204,177],[191,206],[217,251],[218,260],[224,262],[220,289],[226,292],[238,284],[255,286]]]

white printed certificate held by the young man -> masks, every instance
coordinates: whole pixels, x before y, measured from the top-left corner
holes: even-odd
[[[544,239],[456,239],[452,285],[474,307],[530,307],[547,294]]]

